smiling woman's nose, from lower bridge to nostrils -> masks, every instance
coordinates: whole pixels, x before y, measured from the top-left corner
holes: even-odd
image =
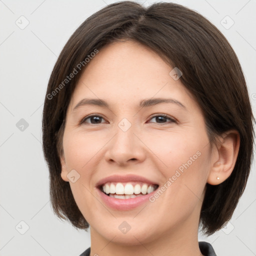
[[[127,130],[122,126],[115,129],[115,134],[107,143],[105,159],[120,166],[145,159],[146,147],[140,138],[140,132],[131,125]]]

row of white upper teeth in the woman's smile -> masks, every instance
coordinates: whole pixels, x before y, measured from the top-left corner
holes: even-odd
[[[103,191],[106,194],[146,194],[146,193],[151,193],[155,190],[154,185],[148,185],[146,183],[142,184],[134,184],[134,186],[131,183],[125,183],[122,184],[120,182],[114,184],[114,183],[105,183],[103,186]]]

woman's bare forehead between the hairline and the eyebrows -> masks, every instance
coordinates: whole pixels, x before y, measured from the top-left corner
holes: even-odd
[[[99,49],[89,61],[72,95],[72,107],[83,97],[104,98],[128,106],[141,99],[171,97],[193,100],[172,67],[152,49],[134,41],[113,42]],[[195,103],[195,102],[194,102]]]

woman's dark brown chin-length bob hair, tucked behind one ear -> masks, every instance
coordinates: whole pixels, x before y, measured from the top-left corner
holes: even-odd
[[[95,49],[100,51],[120,40],[149,46],[170,70],[178,67],[182,71],[182,84],[203,111],[211,146],[217,135],[229,129],[239,132],[240,148],[231,175],[218,185],[206,183],[199,226],[204,234],[213,234],[231,218],[244,191],[253,157],[255,119],[241,66],[226,38],[201,14],[170,2],[147,8],[132,1],[109,4],[89,16],[64,45],[48,81],[42,116],[43,153],[54,213],[76,228],[87,230],[89,226],[69,183],[60,176],[64,120],[75,85],[86,68],[84,59]],[[78,63],[83,65],[66,81]]]

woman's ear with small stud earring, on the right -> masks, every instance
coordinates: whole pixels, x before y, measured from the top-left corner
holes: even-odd
[[[229,130],[220,136],[219,143],[214,148],[214,155],[217,157],[211,161],[207,183],[218,185],[229,177],[236,162],[239,146],[240,136],[237,130]]]

